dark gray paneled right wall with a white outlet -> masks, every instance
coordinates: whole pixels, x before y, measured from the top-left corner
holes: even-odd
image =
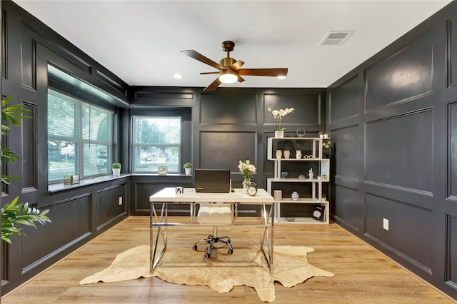
[[[333,220],[453,298],[456,33],[453,2],[327,90]]]

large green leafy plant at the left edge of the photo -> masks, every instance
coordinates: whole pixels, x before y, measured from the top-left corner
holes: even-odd
[[[8,106],[8,103],[15,96],[9,96],[4,98],[1,101],[1,135],[8,136],[8,131],[11,130],[9,124],[12,126],[19,127],[21,126],[21,118],[30,118],[26,116],[25,113],[27,110],[22,108],[22,104],[16,104],[14,106]],[[9,165],[10,161],[15,163],[17,160],[21,160],[19,156],[14,153],[9,148],[1,147],[1,161]],[[20,179],[19,176],[1,176],[1,182],[9,184],[10,181],[16,181]],[[29,207],[29,203],[19,203],[16,205],[19,200],[19,196],[7,203],[3,208],[1,208],[1,239],[11,243],[10,237],[13,235],[26,236],[24,231],[21,228],[17,228],[16,224],[23,224],[27,226],[35,226],[35,222],[41,223],[41,225],[46,224],[46,222],[51,222],[51,220],[46,216],[49,213],[49,210],[39,211],[38,208]]]

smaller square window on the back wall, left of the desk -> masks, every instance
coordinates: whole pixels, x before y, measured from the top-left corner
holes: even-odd
[[[134,172],[180,173],[181,116],[132,116]]]

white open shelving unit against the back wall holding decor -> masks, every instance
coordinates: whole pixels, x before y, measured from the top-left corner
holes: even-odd
[[[322,158],[322,143],[330,138],[308,138],[308,137],[284,137],[268,138],[267,146],[267,159],[268,161],[274,161],[274,177],[267,178],[267,191],[273,196],[273,191],[281,188],[280,183],[311,183],[311,197],[307,198],[298,198],[298,201],[293,201],[289,198],[281,198],[279,201],[275,201],[275,214],[274,221],[275,223],[314,223],[314,224],[328,224],[328,213],[329,213],[329,203],[326,199],[322,198],[322,184],[328,183],[330,180],[330,159]],[[291,142],[292,141],[292,142]],[[293,142],[295,141],[295,142]],[[300,142],[300,141],[308,141]],[[276,150],[284,151],[283,146],[292,146],[291,143],[296,143],[296,146],[308,146],[311,147],[311,150],[302,151],[301,158],[296,158],[296,151],[291,151],[290,158],[276,158]],[[304,158],[304,156],[308,158]],[[297,163],[297,166],[301,168],[306,168],[305,163],[318,162],[319,172],[313,172],[313,178],[308,178],[306,174],[305,178],[281,178],[281,163],[293,161]],[[308,170],[306,170],[308,172]],[[316,176],[320,174],[321,176],[326,175],[326,180],[318,179]],[[303,186],[303,185],[302,185]],[[321,205],[325,207],[323,221],[317,221],[311,216],[309,217],[294,217],[293,221],[286,216],[281,215],[281,204],[286,203],[303,203],[303,204],[312,204],[312,205]]]

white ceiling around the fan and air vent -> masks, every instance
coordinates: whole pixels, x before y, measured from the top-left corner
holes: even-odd
[[[132,86],[208,86],[222,41],[243,69],[288,68],[285,79],[246,76],[233,87],[328,87],[446,6],[435,1],[22,1],[16,4]],[[354,31],[318,46],[328,31]],[[184,78],[175,79],[174,74]]]

